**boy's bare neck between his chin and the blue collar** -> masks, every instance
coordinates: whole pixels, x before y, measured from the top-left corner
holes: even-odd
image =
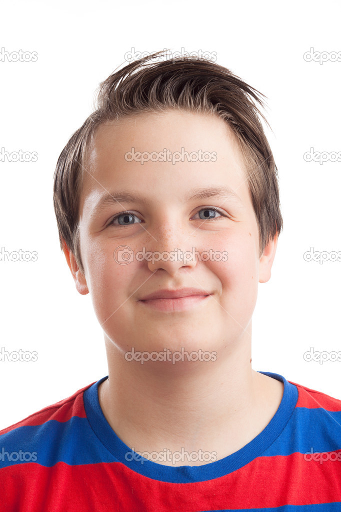
[[[189,453],[226,457],[265,428],[283,395],[281,382],[252,369],[250,352],[244,344],[219,353],[215,361],[142,365],[126,361],[108,341],[109,379],[99,389],[104,416],[135,452],[162,453],[166,448],[173,453],[184,447]]]

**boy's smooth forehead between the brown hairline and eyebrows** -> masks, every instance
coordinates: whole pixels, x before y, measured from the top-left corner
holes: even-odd
[[[209,161],[129,161],[134,152],[170,154],[199,151],[213,155]],[[216,158],[214,159],[214,154]],[[196,158],[195,156],[193,158]],[[230,127],[216,115],[180,112],[143,113],[98,126],[89,146],[81,207],[88,196],[97,199],[112,187],[139,190],[148,195],[161,190],[184,196],[189,188],[211,185],[238,189],[247,200],[248,188],[241,153]],[[118,186],[115,186],[115,185]],[[154,197],[155,199],[155,197]]]

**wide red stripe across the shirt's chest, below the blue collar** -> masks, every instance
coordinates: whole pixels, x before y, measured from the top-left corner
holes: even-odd
[[[305,461],[298,453],[259,457],[231,475],[183,484],[152,480],[119,462],[17,464],[0,471],[0,510],[197,512],[332,503],[341,497],[339,464]]]

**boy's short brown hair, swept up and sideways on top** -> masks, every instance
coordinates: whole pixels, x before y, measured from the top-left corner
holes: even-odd
[[[245,163],[258,223],[259,255],[282,229],[277,167],[260,116],[266,124],[267,121],[254,102],[263,107],[261,96],[265,96],[211,60],[180,56],[160,61],[163,54],[164,51],[156,52],[135,60],[101,82],[96,110],[59,155],[53,201],[60,246],[63,248],[65,241],[83,273],[79,202],[86,154],[100,124],[125,116],[178,109],[221,118],[231,128]],[[157,61],[152,61],[155,58]]]

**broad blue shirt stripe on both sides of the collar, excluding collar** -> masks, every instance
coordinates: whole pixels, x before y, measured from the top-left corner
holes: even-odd
[[[336,436],[335,426],[337,424],[334,419],[341,422],[341,412],[295,408],[287,428],[261,455],[271,457],[287,456],[295,452],[304,454],[309,452],[311,447],[313,452],[340,450],[341,430]],[[4,451],[11,454],[19,452],[19,450],[35,452],[37,454],[36,462],[48,467],[61,461],[70,465],[118,461],[98,440],[90,428],[87,418],[77,416],[73,416],[69,421],[63,423],[50,420],[38,426],[21,426],[2,435],[0,437],[0,467],[25,462],[8,462],[7,455],[5,455],[5,461],[1,461],[4,459]],[[127,451],[131,453],[128,447],[125,449],[125,453]],[[127,461],[124,463],[127,464]],[[139,465],[141,466],[141,463]]]

